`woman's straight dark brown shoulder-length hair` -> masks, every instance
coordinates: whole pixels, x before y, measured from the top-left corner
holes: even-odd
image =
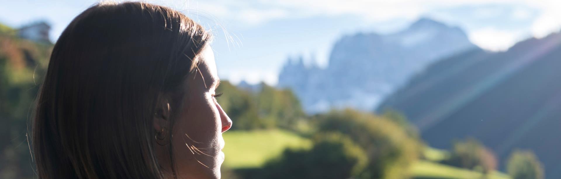
[[[209,36],[182,13],[149,3],[100,3],[78,15],[54,45],[36,100],[39,178],[163,178],[154,113],[164,100],[182,108]]]

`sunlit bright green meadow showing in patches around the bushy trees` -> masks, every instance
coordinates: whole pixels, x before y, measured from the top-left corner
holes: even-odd
[[[309,148],[311,141],[283,130],[229,131],[223,134],[226,141],[226,160],[230,168],[257,168],[268,159],[278,157],[284,148]],[[425,156],[429,160],[442,160],[445,150],[427,148]],[[421,160],[411,167],[413,176],[418,179],[473,179],[482,178],[480,172],[446,166],[436,162]],[[493,172],[487,179],[508,179],[504,173]]]

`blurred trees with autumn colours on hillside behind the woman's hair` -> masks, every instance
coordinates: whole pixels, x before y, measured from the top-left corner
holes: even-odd
[[[22,40],[13,32],[0,24],[0,178],[32,178],[26,136],[52,45]]]

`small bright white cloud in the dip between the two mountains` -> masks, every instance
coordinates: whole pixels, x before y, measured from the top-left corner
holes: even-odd
[[[472,31],[468,36],[473,44],[483,49],[489,51],[506,51],[520,40],[521,33],[486,27]]]

